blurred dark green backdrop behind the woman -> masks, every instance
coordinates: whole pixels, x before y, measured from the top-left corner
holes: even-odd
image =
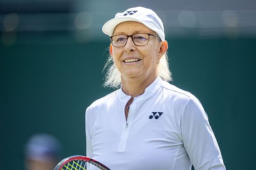
[[[122,7],[121,11],[125,9]],[[106,12],[111,15],[105,16],[104,21],[116,11]],[[1,23],[8,13],[2,8]],[[166,16],[162,17],[166,20]],[[13,169],[13,164],[15,169],[24,169],[24,145],[39,132],[59,139],[62,158],[85,155],[84,111],[113,91],[102,87],[110,41],[99,31],[104,22],[101,20],[99,26],[94,26],[96,33],[94,28],[86,27],[24,31],[19,30],[24,27],[20,26],[1,30],[0,160],[6,162],[1,169]],[[174,26],[168,27],[175,31]],[[180,28],[182,32],[172,33],[170,29],[166,35],[174,78],[171,83],[190,91],[203,104],[227,169],[254,169],[254,32],[242,34],[236,27],[227,33],[221,27],[221,33],[218,30],[214,35],[202,36],[200,28]]]

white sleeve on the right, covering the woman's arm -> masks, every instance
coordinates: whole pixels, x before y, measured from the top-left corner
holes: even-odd
[[[189,99],[181,114],[183,144],[195,169],[226,169],[201,103],[196,98]]]

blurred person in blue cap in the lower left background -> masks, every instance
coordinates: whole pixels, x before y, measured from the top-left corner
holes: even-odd
[[[61,145],[50,134],[33,135],[25,145],[27,170],[53,170],[60,160]]]

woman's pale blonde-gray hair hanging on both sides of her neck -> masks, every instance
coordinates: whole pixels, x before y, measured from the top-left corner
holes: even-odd
[[[119,88],[121,86],[121,74],[115,67],[111,55],[108,56],[108,60],[103,68],[103,71],[104,70],[106,70],[106,74],[104,76],[103,87]],[[164,81],[172,81],[172,74],[169,70],[167,52],[162,56],[158,64],[158,75]]]

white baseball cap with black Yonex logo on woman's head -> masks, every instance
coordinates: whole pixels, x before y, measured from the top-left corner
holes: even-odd
[[[103,25],[103,33],[111,36],[115,27],[124,21],[140,22],[147,28],[155,31],[162,41],[165,40],[162,20],[153,10],[144,7],[129,8],[122,13],[117,13],[115,18],[107,21]]]

